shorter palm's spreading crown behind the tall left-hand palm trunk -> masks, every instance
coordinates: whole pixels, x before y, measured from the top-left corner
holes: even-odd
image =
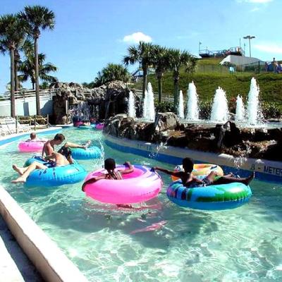
[[[57,79],[49,75],[51,71],[57,71],[58,68],[52,63],[44,63],[46,55],[38,54],[38,65],[39,65],[39,78],[44,82],[54,82]],[[25,61],[20,61],[18,66],[18,79],[23,82],[30,79],[32,82],[32,89],[35,89],[36,77],[35,77],[35,57],[33,56],[33,51],[25,54]]]

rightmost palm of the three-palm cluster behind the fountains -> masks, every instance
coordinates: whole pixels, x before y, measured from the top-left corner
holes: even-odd
[[[174,107],[178,105],[178,82],[180,68],[184,67],[185,72],[195,71],[196,59],[188,51],[178,49],[168,49],[169,68],[173,72],[174,84]]]

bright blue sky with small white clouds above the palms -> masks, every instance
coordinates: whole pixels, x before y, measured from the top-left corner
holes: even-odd
[[[0,14],[25,5],[47,6],[56,15],[53,31],[44,31],[39,51],[63,82],[90,82],[107,63],[121,63],[138,39],[198,54],[227,49],[252,39],[252,56],[282,59],[281,0],[1,0]],[[0,92],[9,81],[9,56],[0,56]],[[25,85],[30,87],[30,84]]]

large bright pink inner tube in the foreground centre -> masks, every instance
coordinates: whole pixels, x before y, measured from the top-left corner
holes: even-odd
[[[101,179],[85,185],[88,197],[106,204],[134,204],[156,197],[161,190],[160,176],[149,171],[147,166],[135,165],[132,173],[124,174],[123,180]],[[123,170],[125,166],[117,166]],[[85,178],[95,178],[106,174],[104,168],[94,171]]]

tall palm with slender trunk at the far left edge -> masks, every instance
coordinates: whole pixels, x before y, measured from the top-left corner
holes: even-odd
[[[8,14],[0,17],[1,51],[9,51],[11,57],[11,116],[16,116],[15,109],[15,49],[25,39],[25,24],[18,16]]]

